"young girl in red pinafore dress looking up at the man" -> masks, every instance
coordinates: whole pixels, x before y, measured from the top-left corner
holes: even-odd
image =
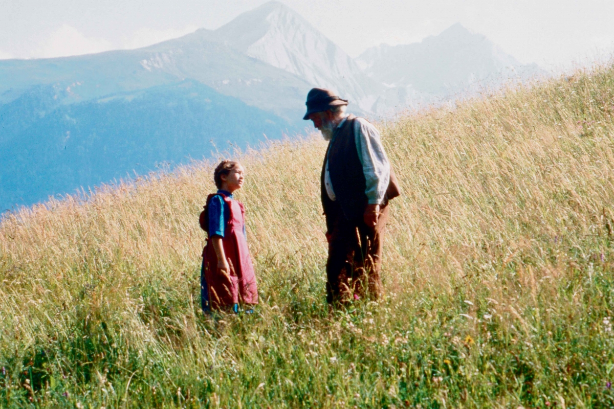
[[[207,198],[209,240],[203,250],[201,270],[204,312],[232,308],[237,313],[239,303],[258,304],[254,266],[245,234],[245,210],[232,196],[243,185],[243,174],[243,166],[234,161],[222,161],[213,174],[219,190]]]

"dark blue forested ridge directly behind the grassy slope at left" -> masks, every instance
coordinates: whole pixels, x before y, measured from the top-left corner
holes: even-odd
[[[66,92],[38,85],[0,105],[0,212],[304,126],[190,79],[72,104]]]

